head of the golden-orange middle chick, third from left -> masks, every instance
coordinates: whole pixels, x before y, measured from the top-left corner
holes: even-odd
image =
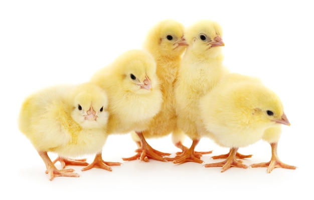
[[[153,55],[181,56],[187,47],[184,26],[175,20],[163,20],[148,32],[144,47]]]

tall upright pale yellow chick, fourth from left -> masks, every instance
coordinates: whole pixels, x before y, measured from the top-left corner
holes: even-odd
[[[189,150],[175,158],[174,163],[203,162],[200,159],[202,154],[194,151],[205,131],[199,116],[199,99],[228,73],[223,65],[222,34],[221,26],[211,20],[198,21],[186,30],[189,46],[181,61],[175,99],[178,126],[193,143]]]

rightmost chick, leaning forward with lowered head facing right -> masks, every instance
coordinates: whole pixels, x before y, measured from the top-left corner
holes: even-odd
[[[225,161],[204,165],[222,166],[221,172],[230,167],[247,168],[236,159],[238,148],[263,138],[278,141],[278,125],[290,125],[279,97],[272,90],[257,78],[235,73],[227,75],[200,99],[200,111],[207,130],[204,136],[231,149]]]

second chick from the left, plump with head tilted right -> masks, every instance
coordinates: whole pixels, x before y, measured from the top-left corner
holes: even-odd
[[[103,88],[109,99],[108,133],[141,132],[160,111],[163,101],[154,58],[145,50],[129,50],[97,71],[90,82]],[[102,165],[101,153],[94,160]]]

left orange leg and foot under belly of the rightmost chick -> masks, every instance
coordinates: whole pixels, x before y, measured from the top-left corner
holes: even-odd
[[[226,171],[230,167],[240,167],[240,168],[245,168],[245,169],[248,168],[247,165],[242,164],[241,161],[238,161],[236,159],[237,151],[238,151],[238,148],[231,148],[230,149],[230,154],[229,154],[229,156],[227,157],[227,159],[225,161],[205,164],[204,167],[218,167],[218,166],[222,166],[221,172]]]

